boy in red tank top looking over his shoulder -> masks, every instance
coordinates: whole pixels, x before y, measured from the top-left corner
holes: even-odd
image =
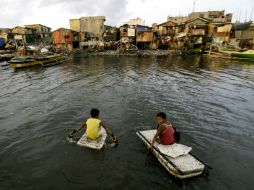
[[[163,145],[171,145],[175,143],[174,132],[175,129],[171,124],[166,123],[167,116],[160,112],[156,115],[156,122],[158,124],[157,133],[153,137],[150,148],[153,148],[155,141]]]

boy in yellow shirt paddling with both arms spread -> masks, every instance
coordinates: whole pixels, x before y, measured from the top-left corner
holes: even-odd
[[[99,119],[100,111],[98,109],[91,110],[91,118],[89,118],[80,128],[73,130],[69,138],[73,138],[75,133],[79,132],[82,128],[85,129],[85,134],[91,140],[96,140],[101,137],[100,130],[101,126],[111,136],[113,140],[116,140],[116,136],[106,127],[106,125]]]

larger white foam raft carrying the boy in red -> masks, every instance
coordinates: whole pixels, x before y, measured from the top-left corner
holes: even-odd
[[[136,134],[147,147],[150,147],[156,130],[138,131]],[[167,171],[177,178],[185,179],[202,175],[205,165],[189,153],[191,147],[180,144],[174,144],[174,146],[172,148],[172,145],[155,143],[152,153]]]

